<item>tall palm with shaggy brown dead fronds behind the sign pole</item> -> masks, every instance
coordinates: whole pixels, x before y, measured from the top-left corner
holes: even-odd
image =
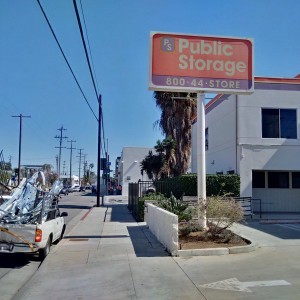
[[[192,120],[197,113],[195,93],[154,92],[156,106],[161,109],[156,121],[165,136],[176,141],[174,176],[186,173],[192,145]]]

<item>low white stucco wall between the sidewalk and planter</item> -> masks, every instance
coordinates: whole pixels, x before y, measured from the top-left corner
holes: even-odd
[[[168,251],[176,254],[178,250],[178,216],[147,203],[145,221],[153,235]]]

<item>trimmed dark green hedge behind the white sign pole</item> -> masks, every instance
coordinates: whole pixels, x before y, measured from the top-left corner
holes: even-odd
[[[169,178],[156,183],[156,192],[171,193],[177,198],[184,196],[197,196],[197,174],[186,174]],[[206,196],[240,195],[240,177],[233,175],[206,175]]]

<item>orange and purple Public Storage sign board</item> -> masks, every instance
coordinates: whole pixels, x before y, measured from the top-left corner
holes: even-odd
[[[151,90],[253,92],[251,39],[151,33]]]

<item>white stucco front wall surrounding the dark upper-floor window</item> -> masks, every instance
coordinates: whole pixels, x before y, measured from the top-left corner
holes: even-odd
[[[241,196],[252,196],[252,170],[300,170],[300,102],[299,92],[256,90],[238,96],[238,161]],[[297,139],[263,139],[262,108],[297,109]]]

